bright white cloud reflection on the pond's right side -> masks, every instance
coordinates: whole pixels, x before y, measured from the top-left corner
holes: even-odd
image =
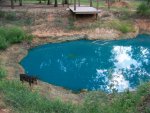
[[[136,56],[134,56],[135,49],[138,52]],[[113,63],[113,66],[110,69],[96,69],[97,76],[94,81],[104,82],[106,87],[103,90],[109,92],[113,89],[118,92],[126,89],[133,90],[135,84],[145,81],[146,77],[150,77],[147,70],[143,68],[144,65],[149,64],[150,52],[147,48],[113,46],[111,54],[109,62]],[[101,87],[99,85],[100,89]]]

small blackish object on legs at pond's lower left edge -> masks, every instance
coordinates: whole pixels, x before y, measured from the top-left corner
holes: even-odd
[[[30,86],[31,84],[37,84],[37,78],[28,76],[27,74],[20,74],[20,81],[22,81],[22,83],[24,81],[29,82]]]

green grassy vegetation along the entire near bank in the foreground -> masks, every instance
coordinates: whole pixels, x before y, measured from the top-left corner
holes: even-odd
[[[15,113],[149,113],[150,83],[145,83],[137,91],[106,94],[92,91],[81,105],[48,100],[38,92],[17,80],[6,80],[4,68],[0,68],[0,94],[5,105]],[[3,79],[2,79],[3,78]],[[1,106],[1,105],[0,105]]]

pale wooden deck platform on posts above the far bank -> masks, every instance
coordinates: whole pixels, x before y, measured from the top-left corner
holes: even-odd
[[[69,9],[75,14],[98,14],[100,10],[97,10],[94,7],[89,6],[76,6],[76,10],[74,10],[74,6],[70,6]]]

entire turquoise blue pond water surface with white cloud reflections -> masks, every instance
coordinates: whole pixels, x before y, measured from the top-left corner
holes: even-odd
[[[21,65],[27,74],[73,91],[132,90],[150,81],[150,35],[46,44],[31,49]]]

